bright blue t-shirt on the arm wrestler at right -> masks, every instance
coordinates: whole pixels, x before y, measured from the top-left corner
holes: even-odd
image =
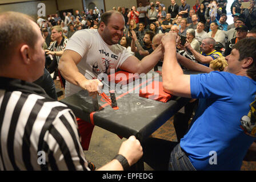
[[[197,170],[239,170],[255,137],[241,129],[256,94],[256,81],[227,72],[191,75],[192,98],[200,98],[181,148]],[[213,151],[217,153],[214,162]]]

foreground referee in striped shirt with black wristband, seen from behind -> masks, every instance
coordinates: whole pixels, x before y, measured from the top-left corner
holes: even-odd
[[[0,19],[0,170],[90,170],[73,112],[33,84],[45,65],[39,27],[21,13]],[[141,156],[131,136],[99,169],[127,169]]]

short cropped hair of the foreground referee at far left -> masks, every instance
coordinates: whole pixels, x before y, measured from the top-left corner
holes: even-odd
[[[34,48],[38,35],[31,23],[34,19],[28,15],[6,11],[1,13],[0,17],[0,68],[2,69],[10,63],[13,49],[21,43]]]

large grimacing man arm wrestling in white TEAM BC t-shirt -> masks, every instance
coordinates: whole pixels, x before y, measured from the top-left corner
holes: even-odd
[[[141,61],[132,56],[125,47],[118,44],[123,36],[125,19],[118,11],[107,11],[102,14],[97,30],[85,29],[75,32],[69,39],[66,49],[59,61],[59,71],[66,79],[65,96],[85,89],[90,96],[97,96],[101,81],[92,79],[100,73],[110,73],[118,68],[130,73],[147,73],[162,57],[161,46]],[[82,122],[86,125],[88,122]],[[79,127],[83,127],[78,123]],[[91,126],[89,126],[91,127]],[[88,132],[92,132],[92,129]],[[85,133],[85,132],[82,132]],[[90,139],[85,139],[84,150],[89,147]],[[90,137],[89,137],[90,138]]]

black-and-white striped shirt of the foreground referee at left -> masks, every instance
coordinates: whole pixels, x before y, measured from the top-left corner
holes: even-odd
[[[73,112],[35,84],[0,77],[0,139],[1,170],[89,170]]]

